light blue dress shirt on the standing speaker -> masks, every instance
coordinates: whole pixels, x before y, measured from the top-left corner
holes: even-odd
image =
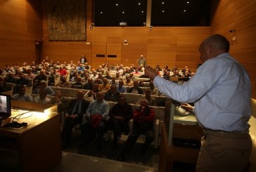
[[[207,60],[186,83],[179,85],[158,76],[154,85],[179,102],[195,102],[198,124],[213,131],[248,133],[250,78],[229,53]]]

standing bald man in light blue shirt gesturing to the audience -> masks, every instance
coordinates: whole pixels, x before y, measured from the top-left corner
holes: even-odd
[[[229,41],[214,34],[200,44],[203,65],[183,85],[166,81],[146,67],[161,93],[179,102],[195,102],[205,135],[196,171],[243,171],[250,159],[250,78],[229,55]]]

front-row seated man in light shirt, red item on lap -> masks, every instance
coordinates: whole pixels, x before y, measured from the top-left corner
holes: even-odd
[[[108,102],[103,100],[103,93],[98,91],[96,100],[93,100],[87,109],[87,120],[80,125],[82,143],[79,147],[84,147],[89,144],[96,131],[97,150],[101,151],[103,135],[105,133],[105,119],[108,117],[109,109]]]

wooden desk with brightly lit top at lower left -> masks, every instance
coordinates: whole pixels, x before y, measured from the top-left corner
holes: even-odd
[[[23,106],[28,109],[32,104],[21,102],[20,105],[20,109]],[[39,110],[42,106],[37,105]],[[0,147],[18,152],[20,171],[51,171],[62,157],[60,115],[56,112],[32,113],[30,117],[19,119],[29,124],[24,128],[0,128]]]

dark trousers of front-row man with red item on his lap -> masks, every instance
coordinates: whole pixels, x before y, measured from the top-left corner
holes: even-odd
[[[96,133],[97,136],[97,147],[101,147],[103,143],[103,136],[105,133],[105,122],[101,121],[101,123],[94,128],[91,126],[90,121],[85,121],[80,125],[80,130],[82,134],[82,142],[89,143]]]

